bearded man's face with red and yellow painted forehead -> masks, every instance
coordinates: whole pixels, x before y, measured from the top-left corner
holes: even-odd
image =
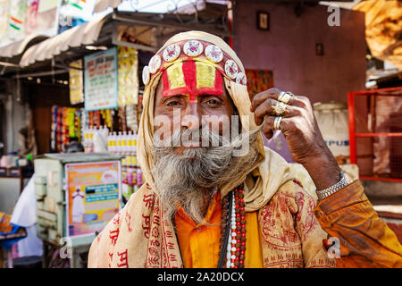
[[[247,156],[234,156],[239,146],[248,147],[244,142],[249,138],[239,136],[239,118],[232,118],[236,109],[219,72],[199,62],[178,63],[163,71],[156,88],[152,173],[168,216],[179,204],[195,222],[202,222],[205,198],[237,180],[257,157],[254,148]],[[161,140],[167,146],[156,144]]]

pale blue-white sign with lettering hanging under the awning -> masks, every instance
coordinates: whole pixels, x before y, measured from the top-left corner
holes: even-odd
[[[117,107],[116,47],[85,56],[84,64],[85,110]]]

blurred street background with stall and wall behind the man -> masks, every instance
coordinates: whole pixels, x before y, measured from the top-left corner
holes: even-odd
[[[0,267],[86,267],[143,184],[143,68],[192,29],[236,51],[250,97],[310,98],[339,166],[402,242],[401,17],[398,0],[0,0]],[[281,132],[264,144],[315,196]]]

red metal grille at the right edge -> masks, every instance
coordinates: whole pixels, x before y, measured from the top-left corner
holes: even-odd
[[[348,113],[360,179],[402,181],[402,87],[349,92]]]

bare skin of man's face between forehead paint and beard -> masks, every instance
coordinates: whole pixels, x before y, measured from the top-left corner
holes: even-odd
[[[214,72],[214,71],[213,71]],[[208,77],[208,74],[203,76]],[[223,122],[230,122],[231,115],[234,114],[234,105],[231,98],[224,87],[222,82],[222,92],[220,94],[211,95],[207,92],[200,92],[197,96],[190,96],[188,94],[169,94],[163,88],[163,80],[159,82],[155,93],[155,107],[154,115],[163,115],[165,119],[160,124],[155,123],[155,131],[159,134],[167,134],[170,137],[175,131],[178,130],[191,130],[199,131],[204,128],[209,130],[219,130],[219,135],[222,136],[222,129],[227,126]],[[179,116],[180,115],[180,116]],[[179,119],[179,122],[178,122]],[[201,134],[200,134],[201,136]],[[188,142],[185,147],[200,147],[199,140]],[[180,145],[182,148],[183,146]],[[180,150],[181,148],[178,148]]]

